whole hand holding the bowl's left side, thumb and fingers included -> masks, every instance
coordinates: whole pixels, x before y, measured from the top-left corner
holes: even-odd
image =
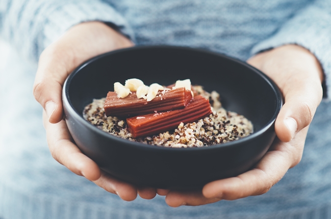
[[[73,26],[59,40],[49,45],[40,55],[33,94],[44,108],[43,122],[52,156],[70,171],[86,177],[125,201],[156,196],[154,188],[137,188],[115,179],[100,170],[73,144],[63,119],[62,87],[70,72],[84,61],[98,54],[134,44],[126,37],[101,22],[85,22]]]

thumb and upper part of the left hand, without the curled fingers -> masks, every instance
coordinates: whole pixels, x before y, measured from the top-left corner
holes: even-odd
[[[44,108],[50,123],[63,118],[62,86],[69,73],[84,61],[133,43],[101,22],[73,26],[40,55],[33,93]]]

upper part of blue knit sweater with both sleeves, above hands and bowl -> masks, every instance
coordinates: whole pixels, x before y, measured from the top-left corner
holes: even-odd
[[[296,43],[315,54],[326,74],[327,85],[330,85],[329,0],[0,2],[1,35],[25,56],[35,60],[68,28],[90,20],[116,24],[137,45],[202,47],[241,60],[261,50]]]

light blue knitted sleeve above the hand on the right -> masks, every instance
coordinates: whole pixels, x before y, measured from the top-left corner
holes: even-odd
[[[273,36],[254,46],[251,54],[285,44],[309,49],[325,75],[324,97],[331,98],[331,1],[317,0],[289,19]]]

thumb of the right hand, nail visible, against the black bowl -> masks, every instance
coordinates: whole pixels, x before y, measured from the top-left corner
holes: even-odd
[[[297,132],[313,120],[316,108],[322,99],[321,84],[298,80],[297,84],[284,94],[285,104],[275,122],[277,137],[283,142],[291,141]],[[310,82],[310,81],[309,81]]]

